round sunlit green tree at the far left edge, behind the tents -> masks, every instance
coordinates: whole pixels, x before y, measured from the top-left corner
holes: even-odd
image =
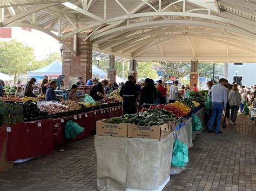
[[[26,73],[29,65],[35,61],[33,48],[19,43],[17,40],[0,41],[0,71],[14,76]]]

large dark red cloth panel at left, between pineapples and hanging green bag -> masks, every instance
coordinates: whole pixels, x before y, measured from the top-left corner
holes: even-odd
[[[53,148],[52,119],[21,122],[7,132],[6,160],[15,161],[51,154]]]

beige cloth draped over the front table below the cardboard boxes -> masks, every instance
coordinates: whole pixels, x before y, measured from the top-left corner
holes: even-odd
[[[97,187],[163,189],[170,179],[174,137],[163,140],[95,136]]]

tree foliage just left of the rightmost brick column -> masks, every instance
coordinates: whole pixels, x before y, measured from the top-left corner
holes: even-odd
[[[172,76],[176,79],[181,79],[190,73],[191,65],[188,63],[180,62],[161,62],[160,70],[163,76]]]

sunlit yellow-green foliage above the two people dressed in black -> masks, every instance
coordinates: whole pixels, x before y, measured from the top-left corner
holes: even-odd
[[[156,70],[153,69],[153,66],[158,66],[156,62],[139,62],[138,63],[138,78],[156,79],[158,77]]]

